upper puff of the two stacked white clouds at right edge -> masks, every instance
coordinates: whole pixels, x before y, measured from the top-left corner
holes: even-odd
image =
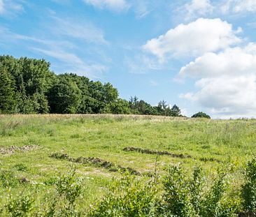
[[[256,43],[244,48],[228,48],[215,54],[208,52],[183,66],[180,75],[189,77],[219,77],[221,75],[256,75]]]

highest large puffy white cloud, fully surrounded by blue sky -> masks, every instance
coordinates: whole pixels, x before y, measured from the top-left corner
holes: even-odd
[[[199,18],[190,24],[180,24],[158,38],[152,38],[143,49],[155,54],[160,61],[167,57],[199,56],[205,52],[216,52],[240,43],[238,31],[220,19]]]

